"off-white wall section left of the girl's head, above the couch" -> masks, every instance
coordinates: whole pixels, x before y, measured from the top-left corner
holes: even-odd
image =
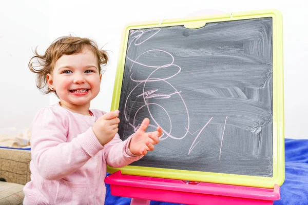
[[[0,128],[29,127],[34,113],[49,104],[28,69],[32,49],[48,46],[48,2],[6,1],[0,6]]]

